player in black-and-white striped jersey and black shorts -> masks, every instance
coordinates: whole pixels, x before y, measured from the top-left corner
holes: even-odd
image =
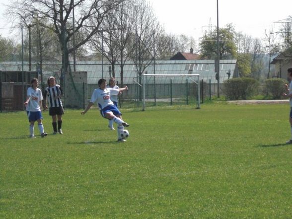
[[[63,94],[62,88],[59,84],[56,84],[55,77],[48,78],[48,87],[45,89],[45,109],[48,109],[47,102],[49,101],[49,115],[52,116],[53,135],[58,132],[63,135],[62,132],[62,115],[64,109],[62,105],[61,96]],[[58,129],[57,129],[58,118]]]

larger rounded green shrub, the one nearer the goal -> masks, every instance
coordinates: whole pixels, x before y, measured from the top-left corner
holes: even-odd
[[[224,81],[222,91],[229,100],[246,100],[257,94],[259,82],[248,77],[236,77]]]

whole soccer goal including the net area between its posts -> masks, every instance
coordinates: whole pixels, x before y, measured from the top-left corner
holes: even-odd
[[[143,110],[157,102],[200,108],[200,74],[142,74],[142,82]]]

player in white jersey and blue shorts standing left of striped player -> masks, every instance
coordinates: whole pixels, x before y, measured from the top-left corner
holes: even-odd
[[[41,133],[41,137],[45,137],[48,134],[44,132],[44,126],[42,124],[42,100],[43,95],[41,89],[38,88],[39,81],[37,78],[31,80],[31,87],[27,88],[27,98],[24,102],[26,106],[26,112],[28,116],[29,126],[29,137],[35,138],[34,136],[34,123],[38,121],[38,128]]]

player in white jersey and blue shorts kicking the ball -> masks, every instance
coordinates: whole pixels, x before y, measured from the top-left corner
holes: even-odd
[[[86,109],[83,112],[81,112],[81,114],[85,115],[85,113],[90,109],[90,107],[95,102],[97,102],[102,117],[109,120],[113,120],[113,122],[118,124],[118,142],[126,142],[126,140],[121,138],[121,133],[124,130],[124,126],[128,127],[129,124],[123,121],[122,113],[111,101],[110,96],[118,95],[119,92],[128,90],[128,87],[125,86],[123,88],[114,89],[106,88],[106,85],[107,85],[106,79],[101,78],[98,80],[99,88],[94,89],[89,104],[87,105]]]

